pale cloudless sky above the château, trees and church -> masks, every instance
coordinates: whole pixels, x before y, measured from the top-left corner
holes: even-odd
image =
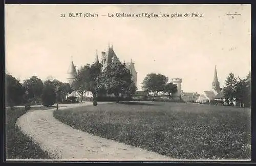
[[[98,17],[69,17],[91,13]],[[127,13],[135,17],[108,17]],[[159,17],[136,17],[153,13]],[[190,14],[184,17],[184,14]],[[191,14],[202,14],[191,17]],[[61,17],[65,14],[66,17]],[[162,17],[161,14],[173,14]],[[177,15],[182,14],[182,17]],[[227,14],[240,14],[233,16]],[[103,15],[103,16],[102,16]],[[137,87],[146,74],[182,78],[184,92],[221,88],[230,72],[251,70],[250,5],[6,5],[6,71],[20,81],[33,75],[67,82],[71,60],[92,64],[108,44],[121,62],[135,62]]]

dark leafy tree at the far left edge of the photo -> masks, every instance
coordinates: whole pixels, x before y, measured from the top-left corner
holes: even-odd
[[[23,102],[25,90],[20,82],[10,74],[6,74],[6,104],[14,106]]]

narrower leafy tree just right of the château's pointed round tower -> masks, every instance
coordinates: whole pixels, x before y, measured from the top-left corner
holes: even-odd
[[[77,94],[81,96],[81,102],[83,94],[90,90],[90,66],[86,65],[78,70],[75,80],[72,83],[72,87]]]

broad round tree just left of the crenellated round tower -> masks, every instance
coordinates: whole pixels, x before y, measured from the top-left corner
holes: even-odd
[[[164,91],[168,77],[162,74],[147,74],[142,82],[142,89],[146,92],[153,92],[154,97],[158,92]]]

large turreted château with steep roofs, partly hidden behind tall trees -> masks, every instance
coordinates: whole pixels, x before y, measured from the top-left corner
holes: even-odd
[[[96,58],[94,63],[100,63],[102,65],[102,71],[106,68],[106,66],[108,66],[110,63],[115,63],[115,62],[120,62],[119,58],[117,57],[114,49],[113,49],[113,45],[112,46],[108,46],[108,49],[106,51],[102,51],[101,52],[101,60],[99,61],[98,58],[98,53],[96,51]],[[132,80],[134,81],[135,86],[137,87],[137,71],[135,70],[135,63],[133,62],[133,60],[131,60],[128,63],[123,62],[126,66],[127,69],[130,70],[131,74],[132,74]],[[87,64],[90,66],[90,64]],[[70,85],[72,85],[72,82],[75,80],[77,71],[76,71],[76,66],[74,65],[73,61],[71,61],[69,70],[68,70],[68,78],[67,81]],[[79,97],[79,95],[77,94],[77,92],[72,92],[69,96],[76,96]],[[84,97],[93,97],[91,92],[86,92],[84,94]]]

